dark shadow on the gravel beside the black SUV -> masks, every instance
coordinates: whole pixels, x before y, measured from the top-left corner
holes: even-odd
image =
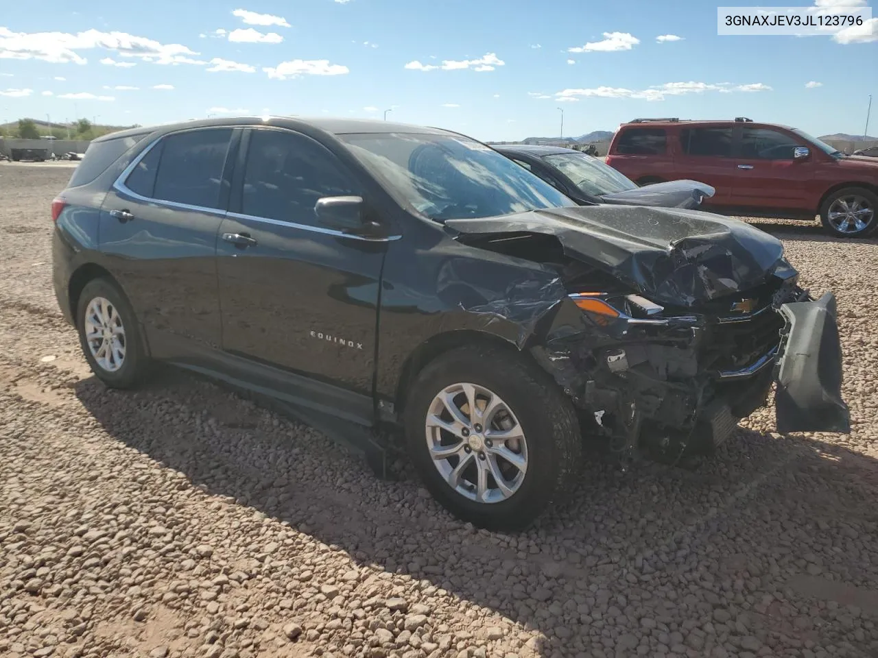
[[[742,427],[695,470],[625,472],[589,446],[569,504],[504,535],[451,518],[414,478],[379,481],[319,434],[174,368],[134,393],[94,377],[75,390],[110,436],[198,488],[538,632],[522,656],[634,655],[655,628],[706,655],[739,641],[734,611],[716,640],[720,597],[766,642],[851,642],[843,626],[798,619],[808,601],[844,598],[844,583],[876,582],[878,469],[837,444]],[[781,593],[787,577],[805,579],[801,594]],[[716,636],[693,631],[705,624]]]

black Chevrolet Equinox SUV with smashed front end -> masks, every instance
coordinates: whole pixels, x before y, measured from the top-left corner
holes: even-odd
[[[698,211],[579,207],[454,132],[118,132],[52,216],[58,302],[104,383],[169,361],[352,433],[400,427],[428,489],[479,526],[564,498],[583,433],[702,452],[775,379],[779,431],[849,430],[834,298],[796,285],[778,240]]]

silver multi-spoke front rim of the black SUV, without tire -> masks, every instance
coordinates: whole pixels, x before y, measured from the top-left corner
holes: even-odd
[[[471,383],[440,391],[427,412],[427,447],[458,494],[478,503],[512,497],[528,471],[528,442],[500,396]]]

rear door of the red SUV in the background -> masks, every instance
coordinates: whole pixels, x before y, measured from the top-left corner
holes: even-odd
[[[706,182],[716,194],[704,199],[705,207],[732,204],[735,184],[733,129],[730,125],[689,125],[680,127],[680,144],[674,156],[676,177]]]

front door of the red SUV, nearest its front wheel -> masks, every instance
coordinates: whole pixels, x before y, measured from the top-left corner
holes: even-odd
[[[792,133],[774,128],[738,129],[734,204],[760,210],[813,209],[808,183],[814,179],[815,157],[795,160],[795,147],[814,147]],[[806,203],[808,200],[808,203]]]

